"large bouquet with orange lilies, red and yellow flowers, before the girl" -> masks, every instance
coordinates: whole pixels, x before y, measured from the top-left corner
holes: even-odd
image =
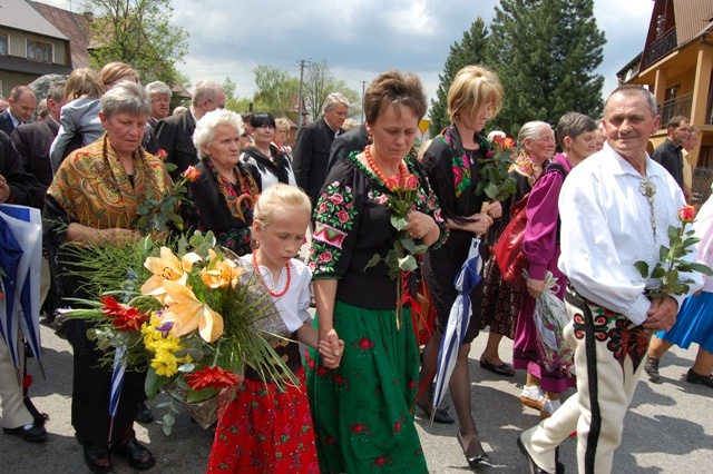
[[[296,384],[270,343],[276,337],[267,329],[270,320],[280,318],[272,298],[253,273],[216,246],[212,233],[180,238],[175,253],[156,248],[148,237],[141,245],[147,255],[143,271],[129,287],[105,292],[99,302],[78,300],[84,308],[60,314],[94,323],[87,335],[105,350],[105,364],[116,366],[118,353],[127,369],[147,371],[150,399],[159,391],[170,396],[159,405],[168,407],[159,422],[166,434],[175,423],[174,402],[186,406],[204,428],[209,426],[217,417],[218,395],[232,396],[245,364],[265,381]],[[87,254],[85,265],[107,265],[102,255]],[[130,256],[127,260],[125,266],[136,263]],[[121,285],[115,282],[115,287]]]

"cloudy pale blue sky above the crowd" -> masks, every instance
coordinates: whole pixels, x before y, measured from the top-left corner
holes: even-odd
[[[81,0],[39,0],[82,11]],[[388,69],[416,72],[436,97],[450,46],[477,17],[489,24],[498,0],[173,0],[172,22],[189,33],[177,68],[202,79],[236,83],[237,97],[255,91],[253,70],[271,65],[300,77],[301,60],[326,60],[330,71],[361,91]],[[595,0],[594,14],[607,43],[597,73],[603,95],[616,72],[644,48],[653,0]],[[507,98],[506,98],[507,100]]]

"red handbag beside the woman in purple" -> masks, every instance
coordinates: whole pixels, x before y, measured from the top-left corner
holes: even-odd
[[[492,247],[495,261],[500,268],[502,279],[512,286],[525,286],[522,271],[527,268],[528,261],[522,254],[522,240],[525,239],[525,227],[527,227],[527,194],[510,208],[510,221],[500,234],[498,241]]]

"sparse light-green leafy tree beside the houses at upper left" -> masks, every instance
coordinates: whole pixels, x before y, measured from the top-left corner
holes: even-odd
[[[94,67],[123,61],[144,83],[174,81],[175,63],[188,50],[188,33],[170,24],[170,0],[85,0],[84,8],[94,16],[89,22]]]

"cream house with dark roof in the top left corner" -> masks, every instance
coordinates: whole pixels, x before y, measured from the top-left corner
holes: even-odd
[[[25,0],[0,0],[0,95],[71,70],[67,36]]]

